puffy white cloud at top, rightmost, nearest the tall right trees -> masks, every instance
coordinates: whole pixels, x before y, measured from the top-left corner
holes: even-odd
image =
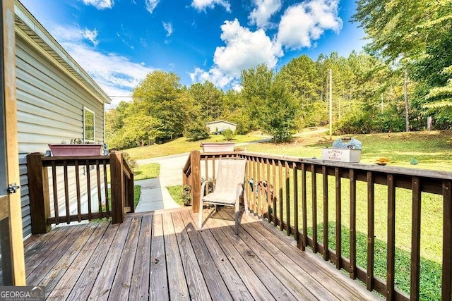
[[[338,32],[343,25],[338,5],[339,0],[311,0],[290,6],[278,27],[278,43],[288,49],[311,47],[325,30]]]

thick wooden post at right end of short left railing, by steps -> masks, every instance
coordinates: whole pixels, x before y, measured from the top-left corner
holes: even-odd
[[[124,221],[124,176],[121,152],[111,152],[110,156],[110,189],[112,191],[112,223]]]

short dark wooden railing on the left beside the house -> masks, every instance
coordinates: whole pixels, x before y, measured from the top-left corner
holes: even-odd
[[[27,169],[33,234],[46,233],[53,223],[107,217],[112,217],[112,223],[121,223],[124,214],[134,210],[133,172],[120,152],[109,156],[48,157],[32,153],[27,156]],[[88,207],[85,210],[83,200]]]

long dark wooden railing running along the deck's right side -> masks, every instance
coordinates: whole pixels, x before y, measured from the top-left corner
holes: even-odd
[[[184,185],[191,185],[193,211],[199,210],[201,171],[204,178],[215,178],[215,160],[226,156],[247,160],[246,193],[254,214],[292,235],[301,250],[309,247],[337,269],[347,271],[350,278],[361,280],[367,290],[376,290],[388,300],[420,299],[421,223],[432,219],[430,215],[438,215],[442,219],[442,228],[437,229],[437,239],[442,240],[441,299],[451,300],[452,173],[251,152],[194,151],[183,169]],[[403,194],[405,200],[400,197]],[[421,204],[430,202],[430,196],[436,197],[432,202],[442,210],[422,212]],[[376,202],[383,202],[385,210],[376,212]],[[408,207],[408,216],[406,211],[396,216],[401,207]],[[408,220],[408,231],[396,231],[396,219],[405,224]],[[362,233],[364,243],[359,243],[357,238]],[[381,277],[374,274],[377,234],[386,247],[386,273]],[[396,239],[403,234],[411,240],[405,247],[410,253],[410,266],[405,266],[410,271],[409,295],[399,290],[395,281]],[[364,249],[362,266],[357,264],[357,254],[363,252],[357,252],[357,247]]]

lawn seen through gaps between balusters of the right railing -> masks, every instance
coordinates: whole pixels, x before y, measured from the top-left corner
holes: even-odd
[[[264,168],[266,169],[266,168]],[[284,174],[284,168],[283,168]],[[275,197],[278,197],[276,214],[280,217],[280,195],[282,195],[283,221],[287,222],[286,213],[290,211],[290,225],[294,225],[294,178],[292,171],[289,173],[288,191],[290,193],[289,207],[286,199],[286,183],[282,187],[274,187]],[[278,175],[278,172],[277,172]],[[278,177],[278,176],[277,176]],[[268,178],[270,178],[268,180]],[[261,180],[267,179],[273,183],[272,171],[270,176],[261,173]],[[302,183],[301,172],[297,173],[298,184]],[[316,199],[312,196],[312,176],[306,175],[306,199],[307,199],[307,230],[312,235],[313,208],[316,208],[317,240],[323,241],[323,182],[322,176],[316,176]],[[356,232],[357,232],[357,264],[366,269],[367,266],[367,183],[357,182],[357,204],[356,204]],[[300,187],[300,186],[299,186]],[[342,179],[340,221],[342,223],[341,233],[343,241],[343,256],[350,258],[350,180]],[[302,231],[302,192],[298,189],[299,207],[299,231]],[[386,278],[386,239],[387,239],[387,192],[385,185],[374,185],[374,235],[375,235],[375,265],[374,272],[379,278]],[[331,249],[335,248],[335,178],[328,176],[328,242]],[[261,197],[261,207],[266,208],[264,203],[266,197]],[[316,201],[314,202],[313,199]],[[412,226],[412,192],[411,190],[396,189],[396,286],[405,293],[410,288],[410,250],[411,250],[411,226]],[[258,203],[256,197],[254,206]],[[442,260],[442,198],[439,195],[422,193],[422,216],[421,216],[421,296],[424,300],[437,300],[441,295],[441,260]],[[256,207],[255,207],[256,208]],[[255,209],[256,211],[256,209]],[[270,210],[273,212],[273,209]],[[333,226],[331,226],[333,225]]]

